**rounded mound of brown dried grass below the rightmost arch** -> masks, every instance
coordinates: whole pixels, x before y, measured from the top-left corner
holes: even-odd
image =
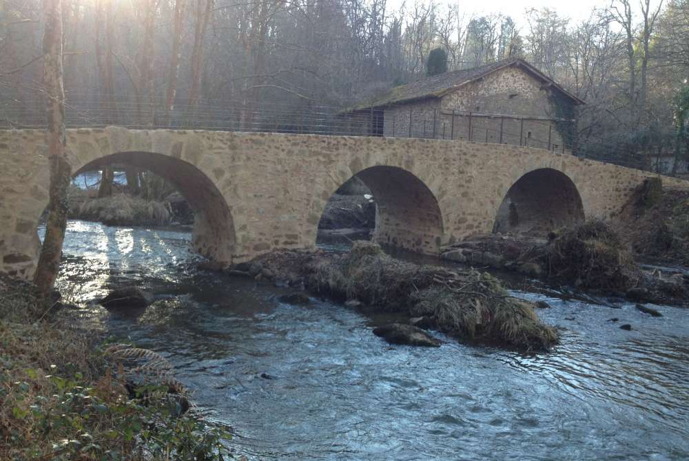
[[[599,220],[565,230],[551,242],[546,257],[551,277],[580,288],[626,291],[641,281],[628,248]]]

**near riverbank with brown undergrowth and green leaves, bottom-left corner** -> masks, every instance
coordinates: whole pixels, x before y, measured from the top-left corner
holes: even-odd
[[[227,454],[227,434],[186,412],[187,392],[164,358],[60,321],[65,308],[0,278],[0,459]]]

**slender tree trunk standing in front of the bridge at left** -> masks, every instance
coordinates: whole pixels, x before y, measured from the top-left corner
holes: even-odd
[[[43,34],[43,81],[48,94],[48,162],[50,164],[50,199],[48,223],[34,283],[48,297],[55,283],[62,257],[62,244],[67,228],[67,189],[72,167],[67,161],[65,129],[65,89],[63,87],[62,2],[45,0],[45,33]]]

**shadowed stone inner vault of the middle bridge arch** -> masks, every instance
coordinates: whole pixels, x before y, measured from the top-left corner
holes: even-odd
[[[350,202],[344,206],[365,206],[365,202],[371,201],[375,204],[375,226],[371,234],[375,242],[415,253],[438,253],[443,234],[442,213],[435,195],[422,180],[409,171],[387,166],[364,169],[353,178],[365,188],[362,190],[364,203]],[[345,182],[351,183],[352,180]],[[333,208],[342,208],[333,203],[340,200],[340,192],[342,187],[325,207],[319,229],[331,220]]]

